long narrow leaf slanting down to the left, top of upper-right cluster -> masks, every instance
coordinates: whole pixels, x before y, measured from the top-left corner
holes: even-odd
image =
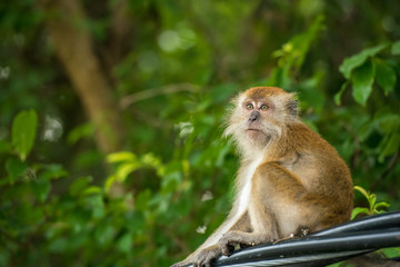
[[[369,57],[373,57],[388,47],[388,43],[382,43],[372,48],[362,50],[359,53],[346,58],[343,63],[339,67],[339,71],[343,73],[347,79],[350,79],[351,71],[366,62]]]

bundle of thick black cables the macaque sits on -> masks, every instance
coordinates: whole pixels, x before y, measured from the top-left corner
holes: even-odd
[[[400,211],[347,222],[303,238],[262,245],[220,257],[214,266],[317,267],[380,248],[400,246]]]

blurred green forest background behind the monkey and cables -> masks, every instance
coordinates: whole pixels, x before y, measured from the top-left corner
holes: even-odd
[[[299,93],[354,216],[399,209],[399,1],[1,1],[0,266],[186,257],[230,209],[223,115],[253,86]]]

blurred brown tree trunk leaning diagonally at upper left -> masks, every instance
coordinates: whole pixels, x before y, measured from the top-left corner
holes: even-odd
[[[41,1],[52,11],[47,21],[56,53],[96,127],[99,149],[109,154],[120,149],[122,123],[113,102],[106,73],[92,49],[92,39],[84,27],[86,16],[78,0]]]

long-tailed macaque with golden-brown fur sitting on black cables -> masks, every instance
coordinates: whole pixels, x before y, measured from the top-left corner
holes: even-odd
[[[233,100],[226,136],[241,158],[227,220],[181,267],[211,266],[234,247],[312,233],[350,219],[352,181],[336,149],[302,123],[293,93],[254,87]]]

